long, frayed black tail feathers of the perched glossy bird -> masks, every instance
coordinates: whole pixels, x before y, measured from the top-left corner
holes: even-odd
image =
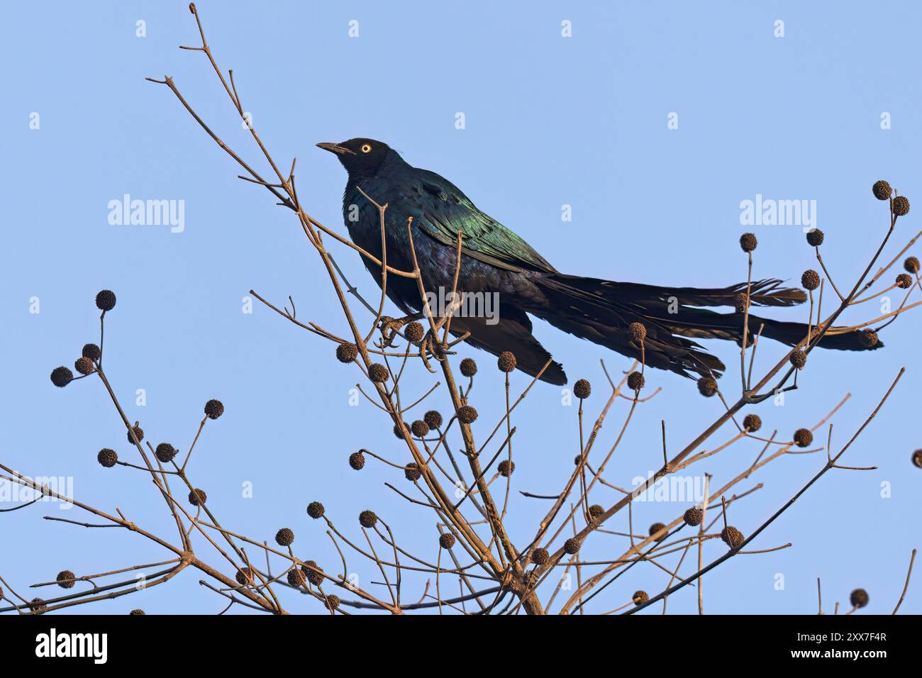
[[[632,282],[613,282],[562,274],[538,280],[549,304],[528,308],[529,313],[547,320],[554,327],[582,339],[589,339],[623,355],[640,359],[640,344],[631,339],[629,326],[640,322],[646,327],[644,361],[652,367],[684,376],[714,375],[726,369],[714,355],[703,351],[692,339],[732,339],[742,341],[742,313],[717,313],[703,306],[734,306],[747,284],[721,289],[657,287]],[[792,306],[806,301],[802,290],[782,287],[781,280],[758,280],[751,284],[751,306]],[[782,322],[753,315],[750,334],[762,330],[762,337],[793,346],[807,336],[803,323]],[[822,348],[844,351],[877,349],[861,341],[860,332],[846,327],[831,327],[820,342]]]

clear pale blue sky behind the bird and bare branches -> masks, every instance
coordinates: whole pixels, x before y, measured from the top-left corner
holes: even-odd
[[[826,233],[824,257],[844,287],[886,231],[886,208],[870,185],[886,178],[911,200],[922,187],[922,85],[911,72],[920,58],[920,9],[913,4],[887,12],[864,3],[839,3],[832,11],[795,2],[703,8],[681,2],[254,6],[205,0],[198,6],[212,49],[224,68],[234,69],[244,108],[266,145],[282,163],[298,157],[302,202],[339,230],[345,172],[313,145],[375,137],[410,163],[450,178],[557,268],[609,280],[697,286],[745,280],[738,238],[752,230],[760,243],[754,275],[796,283],[815,266],[802,229],[745,228],[739,206],[760,194],[815,200],[816,226]],[[106,510],[118,506],[130,519],[171,535],[169,516],[140,472],[96,463],[103,446],[130,453],[101,385],[86,380],[58,390],[48,380],[54,366],[70,365],[84,343],[97,339],[93,297],[110,288],[119,301],[107,320],[107,373],[128,416],[142,422],[151,440],[184,449],[204,402],[225,403],[225,415],[207,425],[191,473],[226,525],[269,540],[288,526],[302,557],[332,568],[337,555],[305,506],[323,501],[337,527],[353,537],[359,535],[355,517],[372,507],[408,550],[434,559],[431,516],[384,487],[384,481],[405,481],[380,465],[356,473],[346,463],[360,447],[398,463],[406,455],[379,410],[349,405],[357,374],[336,363],[331,346],[258,304],[253,314],[242,313],[251,288],[276,303],[291,294],[300,317],[346,331],[296,220],[265,191],[236,179],[231,159],[169,90],[144,80],[174,77],[218,134],[258,161],[205,58],[176,49],[198,40],[185,7],[50,3],[41,20],[27,4],[6,7],[0,28],[9,66],[0,107],[6,130],[0,141],[6,159],[0,169],[6,208],[2,459],[30,476],[73,478],[77,498]],[[352,19],[359,21],[358,38],[349,38]],[[775,37],[779,19],[784,37]],[[136,37],[138,20],[146,22],[146,37]],[[572,22],[570,38],[561,37],[564,20]],[[455,128],[459,112],[466,121],[461,130]],[[33,113],[38,129],[30,128]],[[672,113],[678,129],[668,128]],[[883,113],[889,129],[881,129]],[[183,231],[110,224],[107,205],[125,194],[182,200]],[[563,205],[572,206],[572,221],[561,221]],[[900,220],[885,260],[919,230],[917,218],[911,212]],[[334,254],[349,280],[376,299],[358,257]],[[38,314],[30,313],[33,297]],[[880,315],[876,303],[863,306],[848,318]],[[774,316],[803,320],[806,310]],[[708,612],[812,613],[816,577],[830,606],[845,604],[860,586],[869,590],[868,612],[892,610],[909,552],[919,545],[922,470],[909,463],[922,446],[915,395],[919,327],[918,316],[908,314],[883,334],[882,351],[813,353],[801,389],[787,395],[784,407],[767,402],[754,410],[769,432],[777,428],[784,437],[820,421],[850,392],[834,420],[833,440],[841,445],[906,367],[892,399],[845,458],[878,470],[827,474],[751,546],[790,541],[792,548],[740,555],[705,579]],[[595,414],[604,393],[599,359],[612,372],[629,363],[537,321],[536,331],[572,380],[592,381],[589,411]],[[731,365],[723,384],[732,389],[739,381],[732,367],[736,347],[709,348]],[[473,349],[462,353],[481,365],[474,404],[481,413],[498,411],[502,375],[491,368],[493,359]],[[760,354],[757,365],[764,369],[783,349],[766,342]],[[412,375],[408,392],[424,391],[431,384],[424,377]],[[517,374],[513,383],[522,388],[527,379]],[[609,464],[611,482],[630,484],[658,468],[661,420],[668,422],[670,449],[678,451],[720,413],[716,398],[699,397],[676,375],[648,372],[647,385],[663,391],[635,414]],[[146,393],[144,406],[136,405],[137,389]],[[599,450],[613,441],[625,403],[609,415]],[[446,410],[447,401],[440,394],[432,405]],[[482,419],[475,426],[481,437],[491,428],[489,418]],[[578,450],[575,408],[561,405],[559,388],[538,385],[514,423],[513,490],[559,491]],[[712,442],[726,437],[723,432]],[[691,470],[725,482],[759,448],[744,442]],[[821,465],[816,455],[774,462],[739,486],[765,483],[733,506],[732,522],[751,531]],[[252,498],[242,497],[243,483],[252,483]],[[610,503],[616,497],[599,492],[596,498]],[[634,518],[642,531],[687,506],[648,504]],[[530,540],[545,510],[513,493],[509,528],[518,543]],[[20,592],[64,568],[89,574],[165,559],[120,530],[50,523],[44,515],[77,518],[77,510],[30,506],[0,517],[0,576]],[[621,515],[609,527],[626,531],[626,520]],[[598,535],[587,547],[588,556],[614,558],[625,540]],[[705,557],[720,553],[721,545],[709,543]],[[374,577],[357,559],[350,565],[365,580]],[[683,572],[691,572],[688,565]],[[218,612],[222,601],[199,586],[199,578],[186,572],[167,586],[83,610]],[[593,609],[609,610],[634,589],[652,594],[667,583],[653,566],[634,567]],[[408,598],[421,594],[421,580],[407,590]],[[917,592],[916,582],[905,613],[922,612]],[[290,607],[320,612],[294,596]],[[693,589],[671,598],[669,610],[694,612]]]

